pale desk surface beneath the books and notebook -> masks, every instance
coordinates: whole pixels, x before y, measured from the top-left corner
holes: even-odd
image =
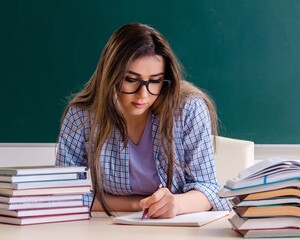
[[[13,226],[0,224],[3,240],[153,240],[243,239],[230,228],[227,218],[202,227],[153,227],[114,225],[108,217],[87,221]],[[288,239],[288,238],[281,238]],[[290,240],[290,238],[288,239]]]

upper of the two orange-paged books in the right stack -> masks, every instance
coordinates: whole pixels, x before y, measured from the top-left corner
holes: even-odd
[[[262,200],[262,199],[272,199],[279,197],[297,197],[300,198],[300,188],[296,187],[287,187],[276,190],[270,190],[265,192],[254,192],[246,195],[239,196],[239,198],[244,201],[248,200]]]

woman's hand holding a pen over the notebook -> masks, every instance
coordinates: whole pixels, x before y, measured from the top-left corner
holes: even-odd
[[[176,197],[168,188],[159,188],[151,196],[140,201],[143,209],[148,209],[149,218],[173,218],[177,213]]]

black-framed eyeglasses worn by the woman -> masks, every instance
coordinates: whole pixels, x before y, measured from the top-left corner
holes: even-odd
[[[165,79],[143,81],[136,78],[125,77],[122,82],[121,92],[126,94],[133,94],[138,92],[142,86],[146,86],[150,94],[159,96],[164,93],[164,91],[170,84],[171,81]]]

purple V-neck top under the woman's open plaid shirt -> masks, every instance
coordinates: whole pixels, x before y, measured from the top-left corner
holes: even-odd
[[[147,119],[140,142],[129,140],[130,187],[134,194],[151,195],[160,184],[153,154],[152,114]]]

